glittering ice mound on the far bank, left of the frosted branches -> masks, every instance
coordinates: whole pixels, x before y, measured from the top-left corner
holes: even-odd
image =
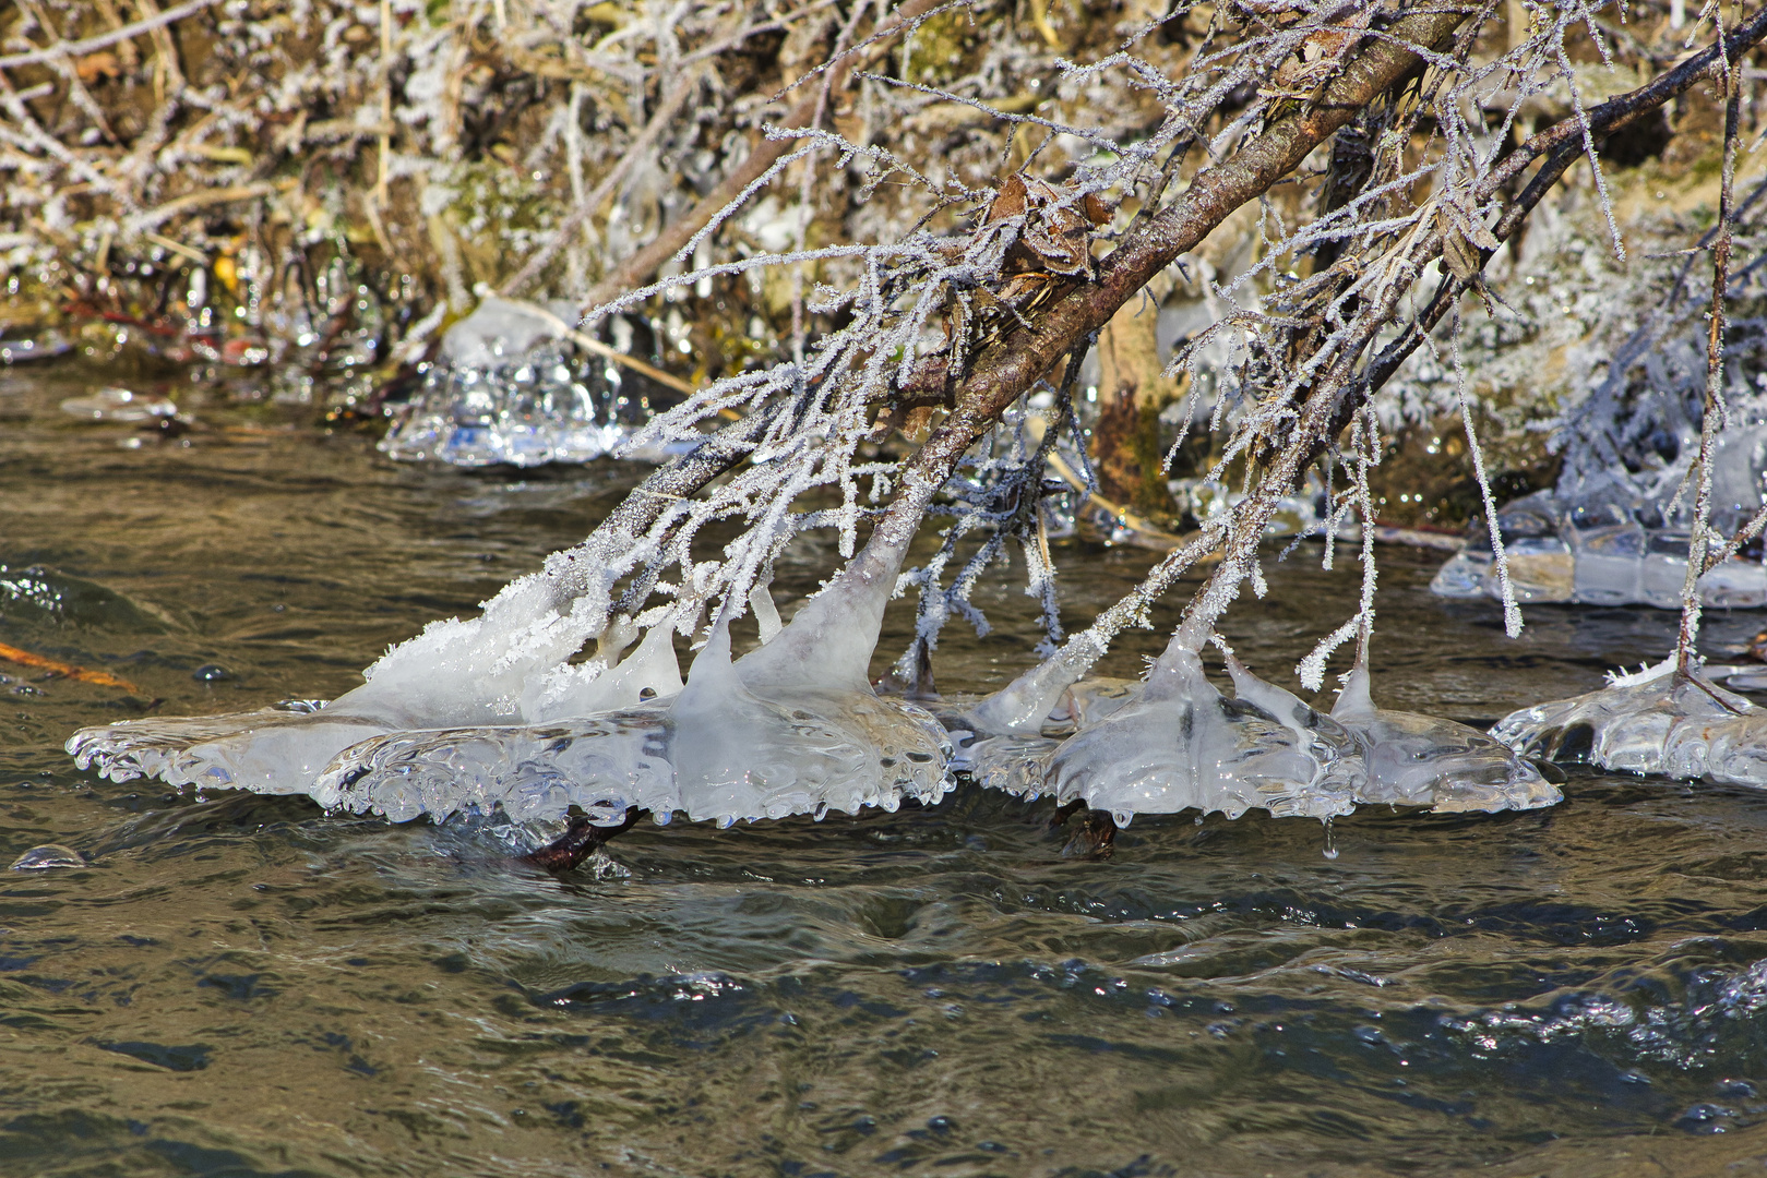
[[[486,298],[442,337],[440,357],[380,449],[454,466],[544,466],[611,454],[643,415],[620,396],[617,369],[574,355],[573,321],[567,302]],[[663,454],[650,447],[622,457]]]

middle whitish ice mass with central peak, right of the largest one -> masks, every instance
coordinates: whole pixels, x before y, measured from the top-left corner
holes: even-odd
[[[1133,699],[1048,749],[1025,733],[982,742],[975,772],[1011,793],[1085,802],[1119,827],[1186,809],[1228,818],[1255,805],[1279,818],[1355,809],[1362,766],[1350,735],[1244,669],[1237,698],[1225,698],[1203,675],[1200,648],[1196,627],[1180,627]]]

